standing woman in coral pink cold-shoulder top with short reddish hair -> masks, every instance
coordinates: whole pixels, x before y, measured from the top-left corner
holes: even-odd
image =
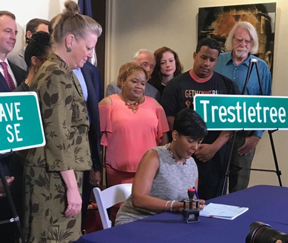
[[[117,79],[122,93],[99,102],[108,187],[132,183],[144,153],[168,143],[169,127],[162,106],[144,96],[147,79],[147,72],[141,66],[126,63],[120,68]]]

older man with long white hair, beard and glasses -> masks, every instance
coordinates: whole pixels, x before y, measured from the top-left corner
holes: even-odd
[[[258,52],[258,36],[256,29],[249,22],[238,22],[228,35],[225,48],[228,52],[221,53],[215,71],[232,79],[240,91],[243,90],[250,60],[257,59],[257,66],[263,88],[263,95],[271,95],[271,72],[262,59],[253,54]],[[245,95],[261,95],[256,68],[252,69]],[[264,131],[241,131],[237,133],[236,143],[231,160],[229,175],[229,192],[239,191],[248,187],[250,170],[255,148]]]

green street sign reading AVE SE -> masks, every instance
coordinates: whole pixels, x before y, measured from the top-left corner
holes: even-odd
[[[35,92],[0,93],[0,153],[46,143]]]

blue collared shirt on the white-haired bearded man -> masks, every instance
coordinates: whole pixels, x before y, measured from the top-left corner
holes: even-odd
[[[250,59],[252,58],[256,58],[258,60],[257,66],[261,79],[263,95],[272,95],[272,79],[269,67],[265,61],[252,54],[250,54],[243,63],[241,63],[239,66],[236,66],[235,62],[232,59],[231,52],[221,53],[214,71],[219,72],[233,80],[239,87],[240,92],[242,92],[248,72]],[[256,67],[253,67],[252,69],[245,95],[261,95]],[[259,138],[261,138],[262,134],[263,131],[254,132],[254,135],[258,136]]]

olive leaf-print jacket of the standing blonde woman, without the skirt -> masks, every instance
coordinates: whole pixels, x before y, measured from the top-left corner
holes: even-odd
[[[48,171],[89,170],[88,113],[73,71],[51,52],[30,90],[38,95],[46,145],[29,151],[26,166],[46,167]]]

